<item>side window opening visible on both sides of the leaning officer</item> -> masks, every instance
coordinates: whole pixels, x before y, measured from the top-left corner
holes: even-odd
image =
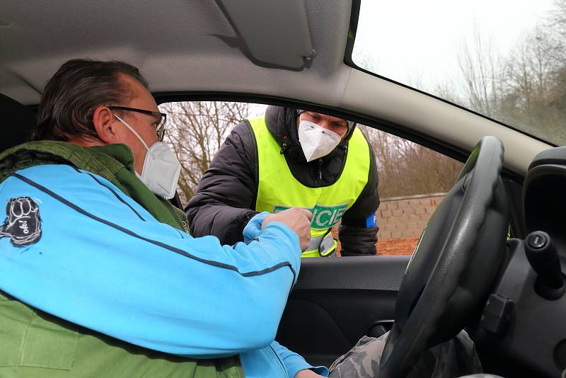
[[[164,103],[159,108],[168,113],[165,140],[183,166],[178,193],[186,205],[233,127],[241,120],[262,117],[267,105],[190,101]],[[374,150],[379,174],[377,251],[410,254],[463,164],[395,135],[358,127]]]

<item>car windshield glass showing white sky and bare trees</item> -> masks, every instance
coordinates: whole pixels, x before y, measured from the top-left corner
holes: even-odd
[[[566,0],[362,0],[352,62],[566,144]]]

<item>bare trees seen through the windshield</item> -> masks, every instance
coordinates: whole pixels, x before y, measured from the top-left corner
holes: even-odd
[[[477,34],[477,33],[476,33]],[[566,0],[494,59],[475,36],[459,57],[468,107],[533,135],[566,144]]]

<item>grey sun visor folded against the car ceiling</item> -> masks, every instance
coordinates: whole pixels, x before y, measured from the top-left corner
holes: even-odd
[[[316,52],[308,30],[304,0],[216,0],[236,31],[236,38],[222,35],[261,67],[301,71]]]

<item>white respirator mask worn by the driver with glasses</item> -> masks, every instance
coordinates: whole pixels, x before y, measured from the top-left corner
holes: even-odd
[[[153,193],[166,200],[171,200],[175,196],[181,173],[181,164],[171,147],[166,142],[155,142],[151,144],[151,147],[147,147],[144,139],[141,139],[139,134],[125,120],[117,115],[114,116],[134,133],[147,150],[141,175],[137,172],[136,175]]]

